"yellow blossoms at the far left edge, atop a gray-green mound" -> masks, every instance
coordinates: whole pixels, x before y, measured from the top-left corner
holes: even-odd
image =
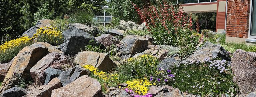
[[[5,52],[9,48],[17,47],[25,43],[31,42],[31,39],[32,38],[29,38],[28,36],[24,36],[24,37],[7,41],[4,44],[0,45],[0,51]]]

